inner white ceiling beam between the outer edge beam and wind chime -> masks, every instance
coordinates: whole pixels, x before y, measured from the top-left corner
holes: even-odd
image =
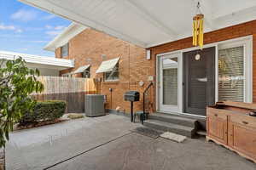
[[[152,26],[160,29],[160,31],[165,32],[171,38],[177,37],[177,32],[173,31],[171,28],[163,24],[160,20],[156,19],[152,14],[150,14],[145,8],[136,3],[136,1],[131,0],[115,0],[116,3],[123,5],[125,8],[131,9],[134,13],[142,17],[143,20],[147,20]]]

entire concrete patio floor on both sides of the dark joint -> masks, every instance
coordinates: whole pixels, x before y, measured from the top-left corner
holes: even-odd
[[[141,126],[125,116],[100,116],[11,133],[9,169],[255,170],[256,164],[218,144],[187,139],[177,144],[131,133]]]

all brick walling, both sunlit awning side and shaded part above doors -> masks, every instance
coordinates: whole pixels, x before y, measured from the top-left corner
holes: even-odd
[[[256,66],[256,20],[237,26],[230,26],[218,31],[208,32],[204,36],[204,42],[207,44],[248,35],[253,35],[254,68],[254,66]],[[102,82],[101,91],[102,94],[108,95],[108,109],[115,109],[117,106],[121,106],[126,112],[129,112],[130,103],[123,100],[123,94],[127,90],[143,92],[143,89],[148,85],[148,76],[154,76],[155,79],[156,54],[191,47],[192,37],[183,38],[175,42],[168,42],[154,48],[149,48],[151,49],[151,59],[147,60],[145,57],[145,49],[110,37],[102,32],[87,29],[70,40],[69,56],[67,58],[75,59],[75,68],[61,71],[61,74],[75,71],[81,65],[90,64],[91,77],[102,77],[102,74],[95,73],[98,66],[102,63],[102,54],[106,55],[105,60],[120,57],[119,82]],[[55,54],[56,57],[60,57],[60,48],[56,49]],[[80,77],[81,75],[77,76]],[[140,81],[145,82],[143,87],[138,85]],[[109,88],[113,88],[112,100],[108,90]],[[253,70],[253,102],[256,102],[256,70]],[[142,101],[135,103],[135,108],[136,110],[142,110]]]

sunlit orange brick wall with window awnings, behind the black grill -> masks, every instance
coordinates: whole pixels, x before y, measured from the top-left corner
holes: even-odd
[[[56,57],[60,57],[60,48],[55,51]],[[106,57],[102,59],[102,54]],[[75,68],[61,71],[61,74],[75,71],[82,65],[90,65],[90,76],[102,78],[102,74],[96,74],[102,60],[120,57],[119,81],[102,82],[101,93],[107,95],[108,109],[120,106],[126,112],[130,111],[130,102],[123,99],[127,90],[138,90],[141,93],[148,85],[148,76],[154,75],[154,59],[147,60],[144,48],[139,48],[129,42],[124,42],[110,37],[102,32],[86,29],[69,41],[69,55],[67,59],[75,59]],[[81,77],[81,75],[76,75]],[[145,84],[139,86],[140,81]],[[109,88],[113,88],[112,96]],[[141,94],[141,99],[143,94]],[[143,110],[143,102],[134,104],[135,110]]]

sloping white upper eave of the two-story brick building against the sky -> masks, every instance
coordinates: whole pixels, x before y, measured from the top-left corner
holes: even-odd
[[[73,22],[70,26],[67,26],[67,28],[61,32],[61,34],[59,34],[51,42],[49,42],[44,47],[44,49],[54,52],[56,48],[65,45],[71,38],[75,37],[86,28],[86,26],[81,26]]]

